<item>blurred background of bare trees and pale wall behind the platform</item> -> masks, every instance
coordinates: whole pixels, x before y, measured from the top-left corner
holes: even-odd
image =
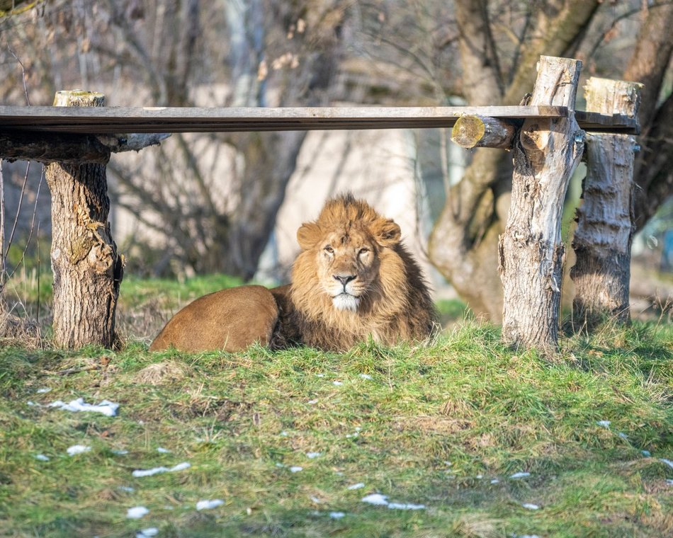
[[[0,0],[0,104],[81,88],[108,106],[513,105],[540,55],[582,59],[582,81],[645,84],[632,315],[670,319],[672,25],[664,0]],[[1,172],[2,285],[28,314],[27,282],[51,278],[49,191],[40,164]],[[507,151],[464,150],[431,129],[174,134],[113,155],[107,173],[131,282],[285,282],[299,225],[351,190],[400,224],[438,299],[502,315]],[[567,195],[566,270],[583,176]],[[570,281],[564,292],[572,300]]]

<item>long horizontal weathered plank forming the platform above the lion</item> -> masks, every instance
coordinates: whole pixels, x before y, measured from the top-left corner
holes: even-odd
[[[0,106],[0,130],[109,134],[120,132],[243,132],[453,127],[465,114],[504,120],[565,118],[558,106],[484,107],[51,107]],[[635,120],[577,113],[590,130],[633,132]],[[584,120],[582,120],[584,118]]]

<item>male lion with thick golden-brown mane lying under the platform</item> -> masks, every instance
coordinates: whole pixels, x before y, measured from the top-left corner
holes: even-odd
[[[373,338],[384,345],[423,340],[436,311],[400,227],[363,200],[329,200],[297,232],[302,252],[292,283],[273,290],[242,286],[211,293],[179,311],[149,350],[238,351],[309,345],[346,350]]]

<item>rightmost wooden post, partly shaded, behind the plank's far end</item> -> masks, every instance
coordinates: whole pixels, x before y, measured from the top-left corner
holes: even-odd
[[[587,110],[638,118],[637,82],[592,77],[584,87]],[[633,161],[630,135],[587,135],[587,177],[577,208],[572,241],[577,261],[570,270],[575,283],[573,324],[591,330],[606,319],[630,321],[628,287],[633,240]]]

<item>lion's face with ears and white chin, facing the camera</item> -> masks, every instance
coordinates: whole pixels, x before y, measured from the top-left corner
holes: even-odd
[[[329,299],[334,309],[356,312],[363,299],[372,302],[380,295],[381,262],[400,242],[400,227],[375,213],[370,218],[339,217],[300,227],[297,238],[304,252],[297,268],[312,267],[313,292]],[[295,271],[295,277],[298,273],[307,277],[304,271]]]

